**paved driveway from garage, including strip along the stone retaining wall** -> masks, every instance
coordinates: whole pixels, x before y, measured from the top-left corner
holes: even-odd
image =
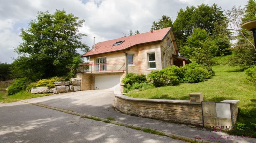
[[[66,109],[77,113],[93,115],[97,117],[107,118],[113,117],[118,122],[127,123],[129,125],[137,125],[141,127],[156,129],[173,133],[175,135],[185,136],[188,138],[207,138],[231,136],[224,132],[211,132],[200,127],[189,126],[184,124],[168,123],[150,118],[143,118],[122,114],[113,109],[114,91],[112,90],[90,90],[64,93],[58,95],[44,96],[38,98],[27,99],[30,103],[40,103],[51,107]],[[199,140],[201,141],[201,140]],[[215,141],[215,140],[210,140]],[[217,140],[219,142],[256,142],[256,139],[240,138]]]

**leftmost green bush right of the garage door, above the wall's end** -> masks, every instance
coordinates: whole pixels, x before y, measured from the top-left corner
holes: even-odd
[[[137,75],[137,74],[133,74],[133,73],[129,73],[125,75],[125,78],[122,80],[123,83],[125,84],[134,84],[134,83],[142,83],[142,82],[146,82],[147,78],[146,75]]]

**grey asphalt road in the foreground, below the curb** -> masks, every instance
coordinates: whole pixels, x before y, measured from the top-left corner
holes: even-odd
[[[182,142],[23,102],[0,104],[0,142]]]

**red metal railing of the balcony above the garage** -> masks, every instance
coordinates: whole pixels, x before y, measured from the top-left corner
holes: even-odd
[[[124,72],[125,63],[98,63],[79,65],[77,73]]]

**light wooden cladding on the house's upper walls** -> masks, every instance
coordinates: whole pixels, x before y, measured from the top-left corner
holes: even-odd
[[[172,49],[167,45],[168,38],[173,41]],[[156,69],[163,69],[164,61],[163,61],[163,53],[165,53],[165,59],[166,59],[166,67],[173,65],[173,59],[172,54],[177,54],[176,51],[177,45],[174,41],[174,35],[173,32],[170,31],[168,35],[163,39],[162,42],[155,42],[150,44],[143,44],[138,45],[135,47],[132,47],[128,50],[125,50],[127,54],[133,54],[133,64],[132,66],[128,65],[128,73],[134,73],[134,74],[150,74],[152,70]],[[107,53],[107,54],[100,54],[100,55],[94,55],[90,57],[90,64],[96,63],[96,58],[100,57],[106,57],[106,63],[125,63],[125,65],[112,65],[112,69],[115,70],[123,70],[127,68],[126,66],[126,54],[123,51],[119,52],[113,52],[113,53]],[[148,69],[148,53],[155,53],[156,57],[156,68],[155,69]],[[95,70],[95,66],[91,67],[92,71]],[[107,65],[107,70],[111,70],[111,65]]]

